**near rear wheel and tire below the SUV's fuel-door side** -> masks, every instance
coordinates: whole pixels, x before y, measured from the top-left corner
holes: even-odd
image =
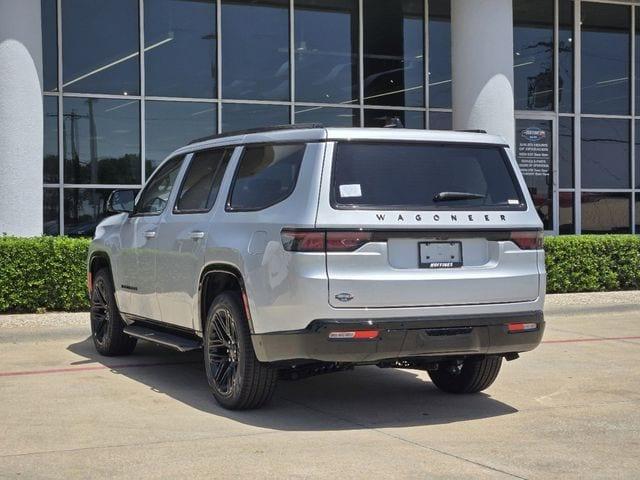
[[[207,381],[221,406],[248,410],[271,399],[278,372],[256,358],[242,300],[236,292],[225,292],[214,299],[207,315],[203,350]]]

